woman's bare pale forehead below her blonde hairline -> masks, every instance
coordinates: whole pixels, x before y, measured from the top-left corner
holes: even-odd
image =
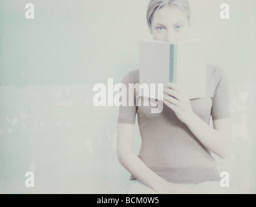
[[[164,6],[153,14],[152,23],[162,25],[175,25],[180,21],[188,21],[186,14],[175,6]]]

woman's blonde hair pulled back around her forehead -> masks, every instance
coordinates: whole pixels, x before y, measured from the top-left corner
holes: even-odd
[[[179,8],[188,17],[188,23],[190,22],[191,10],[188,0],[151,0],[147,6],[147,25],[149,27],[151,27],[155,12],[164,6]]]

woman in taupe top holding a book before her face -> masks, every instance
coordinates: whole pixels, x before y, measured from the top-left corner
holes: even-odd
[[[155,40],[185,39],[190,25],[188,1],[151,0],[147,23]],[[131,71],[123,83],[139,83],[138,78],[138,70]],[[189,100],[177,85],[168,83],[160,114],[151,114],[143,104],[120,107],[118,158],[131,173],[128,193],[222,192],[211,156],[212,152],[225,158],[231,149],[229,89],[220,68],[207,65],[206,88],[204,98]],[[136,114],[142,136],[139,155],[133,151]]]

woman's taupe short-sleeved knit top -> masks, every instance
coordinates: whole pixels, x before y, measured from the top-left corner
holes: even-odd
[[[190,100],[192,110],[207,124],[212,120],[230,118],[229,87],[225,72],[207,65],[206,94],[204,98]],[[122,80],[139,83],[139,70],[131,71]],[[127,95],[127,98],[129,95]],[[155,173],[168,182],[193,184],[220,180],[216,161],[211,152],[199,142],[181,122],[172,109],[163,106],[162,113],[151,113],[151,106],[120,106],[118,123],[135,124],[136,114],[142,137],[138,157]],[[136,178],[131,175],[131,180]]]

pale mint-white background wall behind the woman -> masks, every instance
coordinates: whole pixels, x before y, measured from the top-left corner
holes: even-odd
[[[124,192],[118,107],[95,107],[92,87],[138,67],[138,40],[151,38],[147,2],[0,1],[0,193]],[[216,158],[219,169],[237,192],[255,193],[256,1],[190,3],[192,33],[208,40],[208,61],[224,67],[231,86],[233,153]],[[221,3],[229,20],[219,17]],[[25,187],[26,171],[34,188]]]

